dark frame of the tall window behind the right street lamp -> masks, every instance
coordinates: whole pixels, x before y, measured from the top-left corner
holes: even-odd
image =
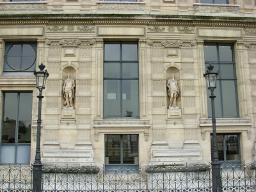
[[[216,86],[219,88],[219,95],[220,95],[220,113],[221,113],[221,116],[218,116],[216,115],[216,118],[229,118],[229,117],[232,117],[232,118],[236,118],[236,117],[239,117],[239,97],[238,97],[238,88],[237,88],[237,74],[236,74],[236,61],[235,61],[235,54],[234,54],[234,44],[229,44],[229,43],[215,43],[215,42],[207,42],[207,43],[204,43],[204,46],[205,45],[209,45],[209,44],[215,44],[216,46],[216,50],[217,50],[217,58],[218,58],[218,61],[204,61],[205,63],[205,69],[207,68],[207,66],[209,66],[210,64],[214,66],[214,71],[217,71],[218,70],[218,76],[217,76],[217,82],[216,82]],[[232,61],[220,61],[220,46],[221,45],[230,45],[232,47]],[[225,78],[225,77],[221,77],[221,64],[225,64],[225,65],[233,65],[233,72],[234,72],[234,77],[228,77],[228,78]],[[218,66],[218,69],[216,68],[216,66]],[[224,73],[223,73],[224,74]],[[236,116],[225,116],[224,114],[224,106],[223,106],[223,88],[222,88],[222,83],[223,82],[227,82],[227,81],[234,81],[234,88],[235,88],[235,99],[236,99]],[[214,90],[214,92],[216,92],[216,90]],[[211,108],[209,109],[209,105],[211,106],[211,99],[209,99],[209,95],[210,95],[210,91],[207,90],[207,106],[208,106],[208,117],[211,118]],[[216,95],[216,93],[215,93]],[[217,108],[218,106],[216,106],[215,104],[215,109]]]

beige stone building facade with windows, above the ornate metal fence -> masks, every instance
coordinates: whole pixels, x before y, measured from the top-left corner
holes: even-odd
[[[0,10],[1,164],[35,159],[40,63],[50,74],[44,164],[209,163],[209,64],[219,70],[220,160],[256,159],[255,1],[1,1]],[[74,108],[63,104],[68,73]],[[170,74],[179,94],[169,108]]]

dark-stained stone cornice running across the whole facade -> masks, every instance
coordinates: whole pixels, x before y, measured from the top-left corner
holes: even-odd
[[[166,18],[163,19],[163,17]],[[30,14],[0,15],[0,25],[161,25],[255,28],[252,17],[207,17],[188,15],[103,15],[103,14]],[[179,17],[177,17],[179,16]]]

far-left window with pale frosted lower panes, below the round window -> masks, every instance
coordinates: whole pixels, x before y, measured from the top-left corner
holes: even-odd
[[[32,93],[3,93],[0,163],[30,161]]]

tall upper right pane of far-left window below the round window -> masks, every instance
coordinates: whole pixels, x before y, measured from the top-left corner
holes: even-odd
[[[32,93],[20,93],[19,143],[31,143],[31,111]]]

